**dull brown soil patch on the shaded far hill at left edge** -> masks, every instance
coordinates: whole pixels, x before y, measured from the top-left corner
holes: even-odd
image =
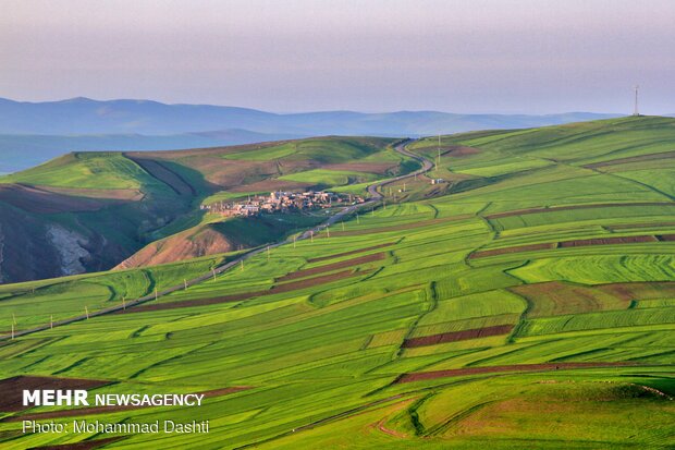
[[[94,198],[54,194],[23,184],[0,184],[0,202],[37,214],[96,211],[109,204]]]

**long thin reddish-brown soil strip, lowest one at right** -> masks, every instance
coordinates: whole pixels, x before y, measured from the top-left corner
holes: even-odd
[[[616,363],[541,363],[541,364],[513,364],[505,366],[489,366],[489,367],[464,367],[453,368],[447,370],[434,370],[434,372],[417,372],[412,374],[404,374],[394,382],[413,382],[424,381],[437,378],[446,377],[463,377],[467,375],[480,375],[480,374],[499,374],[503,372],[545,372],[545,370],[565,370],[577,368],[602,368],[602,367],[626,367],[634,366],[635,363],[616,362]]]

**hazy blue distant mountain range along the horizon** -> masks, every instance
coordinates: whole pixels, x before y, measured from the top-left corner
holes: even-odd
[[[321,135],[422,136],[555,125],[618,114],[457,114],[438,111],[279,114],[210,105],[73,98],[27,102],[0,98],[0,172],[72,150],[152,150],[248,144]]]

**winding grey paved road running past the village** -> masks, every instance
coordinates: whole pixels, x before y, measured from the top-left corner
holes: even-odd
[[[427,159],[425,157],[421,157],[421,156],[418,156],[418,155],[415,155],[415,154],[408,151],[405,147],[410,142],[412,142],[410,139],[405,139],[405,141],[401,142],[398,145],[396,145],[394,147],[394,149],[396,151],[398,151],[400,154],[402,154],[402,155],[405,155],[405,156],[407,156],[409,158],[413,158],[413,159],[419,161],[422,165],[421,169],[418,169],[415,172],[406,173],[405,175],[400,175],[400,177],[395,177],[395,178],[378,181],[377,183],[373,183],[373,184],[369,185],[368,186],[369,198],[365,203],[361,203],[361,204],[358,204],[358,205],[352,205],[352,206],[347,206],[347,207],[343,208],[340,212],[331,216],[324,223],[305,231],[303,234],[300,234],[299,236],[296,238],[296,241],[311,239],[312,233],[314,234],[318,234],[321,230],[326,229],[327,227],[332,226],[338,220],[354,214],[358,209],[366,208],[366,207],[369,207],[369,206],[370,207],[375,207],[375,205],[377,205],[383,198],[382,194],[380,192],[378,192],[379,187],[381,187],[381,186],[383,186],[385,184],[389,184],[389,183],[393,183],[393,182],[396,182],[396,181],[400,181],[400,180],[405,180],[405,179],[415,177],[417,174],[421,174],[421,173],[428,172],[433,167],[433,162],[431,162],[429,159]],[[275,248],[275,247],[279,247],[281,245],[286,245],[286,244],[291,244],[291,243],[293,243],[293,238],[290,238],[290,239],[287,239],[285,241],[282,241],[282,242],[278,242],[275,244],[271,244],[271,245],[269,245],[269,248]],[[236,259],[233,259],[230,263],[213,269],[209,273],[205,273],[205,275],[202,275],[200,277],[197,277],[195,279],[192,279],[192,280],[187,281],[187,287],[191,287],[191,285],[194,285],[194,284],[198,284],[198,283],[200,283],[202,281],[206,281],[206,280],[208,280],[210,278],[213,278],[217,275],[222,273],[222,272],[224,272],[224,271],[226,271],[226,270],[229,270],[229,269],[231,269],[231,268],[233,268],[235,266],[240,266],[242,264],[242,262],[244,262],[246,259],[249,259],[249,258],[251,258],[251,257],[254,257],[256,255],[259,255],[259,254],[261,254],[263,252],[267,252],[267,246],[260,247],[260,248],[256,248],[256,250],[253,250],[250,252],[247,252],[244,255],[238,256]],[[89,313],[88,316],[83,314],[81,316],[75,316],[75,317],[71,317],[71,318],[68,318],[68,319],[54,321],[53,324],[51,324],[51,326],[50,326],[50,324],[46,324],[46,325],[40,326],[40,327],[29,328],[29,329],[25,329],[25,330],[17,330],[17,331],[14,332],[14,337],[19,338],[20,336],[26,336],[26,335],[32,335],[32,333],[38,332],[38,331],[45,331],[45,330],[48,330],[48,329],[50,329],[52,327],[56,328],[56,327],[60,327],[60,326],[63,326],[63,325],[69,325],[69,324],[74,324],[76,321],[86,320],[86,319],[88,319],[90,317],[97,317],[97,316],[103,316],[103,315],[110,314],[110,313],[116,313],[116,312],[120,312],[120,311],[123,311],[123,309],[126,309],[126,308],[134,307],[136,305],[140,305],[143,303],[147,303],[147,302],[154,301],[156,299],[159,299],[160,296],[170,294],[172,292],[181,291],[183,289],[185,289],[184,284],[174,285],[172,288],[168,288],[168,289],[164,289],[162,291],[158,291],[157,293],[154,292],[154,293],[151,293],[149,295],[146,295],[146,296],[143,296],[140,299],[128,301],[128,302],[126,302],[125,305],[115,305],[115,306],[110,306],[110,307],[107,307],[107,308],[103,308],[103,309],[98,309],[98,311],[91,312],[91,313]],[[0,336],[0,341],[8,340],[8,339],[11,339],[11,338],[12,338],[11,335]]]

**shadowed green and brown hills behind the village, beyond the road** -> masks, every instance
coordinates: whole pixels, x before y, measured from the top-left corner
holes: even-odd
[[[323,137],[179,151],[73,153],[0,177],[5,245],[0,280],[110,269],[142,248],[148,253],[150,245],[161,244],[163,254],[135,259],[170,263],[247,247],[262,241],[228,236],[221,232],[228,227],[194,229],[205,221],[199,209],[205,198],[343,186],[412,170],[389,148],[392,142]],[[196,245],[187,242],[193,235]]]

